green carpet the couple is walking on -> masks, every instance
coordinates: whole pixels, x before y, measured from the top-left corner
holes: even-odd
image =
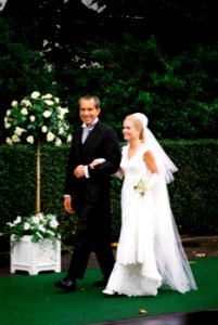
[[[99,269],[87,270],[75,292],[63,294],[53,286],[64,273],[17,275],[0,278],[1,325],[85,325],[127,318],[192,312],[218,308],[218,258],[191,263],[198,287],[185,295],[159,290],[156,297],[104,297],[92,287],[101,278]]]

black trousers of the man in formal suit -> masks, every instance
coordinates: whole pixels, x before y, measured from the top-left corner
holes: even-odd
[[[108,209],[97,210],[86,207],[78,216],[75,246],[68,269],[68,276],[84,278],[90,252],[93,248],[99,265],[105,277],[114,266],[114,255],[111,247],[111,213]]]

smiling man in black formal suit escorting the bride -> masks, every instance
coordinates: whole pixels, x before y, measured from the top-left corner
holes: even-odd
[[[75,291],[76,278],[84,278],[92,247],[103,274],[93,285],[105,286],[114,266],[110,186],[120,162],[117,134],[99,119],[99,98],[86,95],[78,104],[84,123],[73,134],[64,188],[65,210],[77,212],[78,225],[67,275],[54,283],[65,291]],[[101,164],[91,168],[95,159]]]

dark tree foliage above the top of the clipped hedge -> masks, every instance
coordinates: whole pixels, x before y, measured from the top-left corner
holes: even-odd
[[[0,142],[12,100],[52,92],[79,123],[77,100],[94,92],[117,130],[132,112],[162,139],[217,133],[216,10],[205,0],[8,0],[0,14]]]

